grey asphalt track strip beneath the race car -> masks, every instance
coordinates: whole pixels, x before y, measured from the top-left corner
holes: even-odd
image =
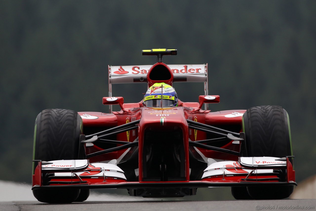
[[[78,210],[315,210],[316,199],[230,201],[88,201],[45,204],[37,201],[0,202],[1,211]]]

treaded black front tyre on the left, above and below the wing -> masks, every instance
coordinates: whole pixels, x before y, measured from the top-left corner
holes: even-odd
[[[43,110],[35,120],[33,160],[84,159],[84,146],[79,140],[81,134],[82,118],[77,112],[65,109]],[[33,174],[36,164],[33,162]],[[46,203],[71,203],[78,198],[79,193],[79,189],[33,190],[35,198]]]

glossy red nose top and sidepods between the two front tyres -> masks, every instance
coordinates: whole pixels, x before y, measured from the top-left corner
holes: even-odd
[[[193,103],[183,103],[185,104],[193,104]],[[196,106],[198,105],[197,103]],[[124,106],[124,104],[123,104]],[[132,108],[131,110],[134,110]],[[220,111],[220,112],[210,112],[204,110],[198,110],[192,112],[192,107],[173,107],[173,108],[144,108],[139,107],[136,111],[131,112],[129,109],[120,112],[113,112],[113,114],[107,114],[102,112],[79,112],[82,115],[91,115],[98,117],[97,119],[82,119],[83,126],[86,127],[115,127],[119,125],[126,124],[126,121],[129,122],[131,119],[138,120],[141,119],[139,123],[139,129],[134,129],[129,132],[129,139],[126,132],[120,133],[117,135],[117,140],[126,141],[126,142],[133,142],[136,137],[139,139],[139,147],[140,152],[142,143],[143,143],[143,132],[144,129],[147,127],[155,128],[157,131],[165,131],[165,130],[174,130],[174,128],[180,127],[184,131],[184,143],[188,143],[188,139],[192,141],[204,140],[206,139],[206,132],[203,131],[194,131],[193,129],[188,128],[186,119],[190,119],[193,121],[197,121],[203,124],[211,125],[211,126],[220,126],[220,125],[229,125],[231,127],[236,127],[241,132],[241,122],[242,116],[234,117],[234,118],[227,118],[225,115],[232,114],[234,112],[244,113],[246,110],[228,110],[228,111]],[[161,125],[161,117],[166,117],[165,125]],[[195,137],[196,133],[196,137]],[[231,141],[232,142],[232,141]],[[228,144],[222,146],[224,149],[239,151],[240,146],[236,144],[232,144],[229,142]],[[185,149],[188,148],[185,147]],[[96,145],[93,147],[88,147],[86,149],[86,154],[90,154],[96,151],[100,151],[100,149]],[[205,157],[212,157],[215,159],[222,159],[222,160],[235,160],[238,161],[238,156],[233,156],[225,153],[216,152],[213,150],[205,150],[199,148],[201,152],[205,155]],[[120,150],[117,152],[112,152],[109,154],[105,154],[99,156],[98,158],[94,157],[90,159],[90,162],[99,162],[104,160],[112,160],[119,158],[125,150]],[[187,155],[188,152],[185,154]],[[139,160],[141,161],[142,156],[139,155]],[[187,162],[186,165],[188,166],[189,163]],[[140,166],[141,168],[141,166]],[[141,178],[141,177],[140,177]]]

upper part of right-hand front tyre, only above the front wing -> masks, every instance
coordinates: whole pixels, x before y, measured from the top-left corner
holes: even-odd
[[[292,155],[288,113],[280,106],[248,109],[243,115],[247,157]]]

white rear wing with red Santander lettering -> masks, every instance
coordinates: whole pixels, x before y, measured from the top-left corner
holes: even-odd
[[[147,73],[152,65],[110,66],[109,97],[112,84],[147,83]],[[204,82],[204,94],[208,95],[207,64],[168,65],[173,73],[173,82]]]

